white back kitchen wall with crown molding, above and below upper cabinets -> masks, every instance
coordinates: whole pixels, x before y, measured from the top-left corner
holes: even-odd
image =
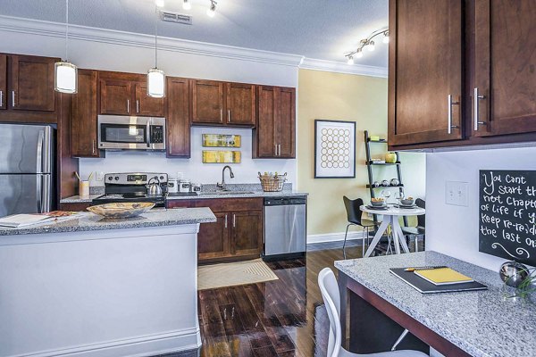
[[[64,56],[63,26],[43,21],[0,17],[0,52]],[[71,28],[69,60],[79,68],[145,73],[155,65],[154,37],[104,29]],[[159,39],[158,66],[169,76],[229,80],[297,87],[301,56],[273,54],[237,47],[198,44],[172,38]],[[198,183],[221,180],[222,164],[201,162],[201,134],[242,135],[242,162],[233,164],[235,179],[229,182],[253,183],[257,171],[289,172],[296,183],[296,160],[252,160],[251,129],[192,129],[191,159],[166,159],[165,154],[107,153],[105,159],[82,159],[80,171],[117,172],[155,170],[182,171]],[[150,157],[151,160],[145,160]],[[143,166],[140,162],[143,160]],[[91,183],[92,186],[102,182]]]

